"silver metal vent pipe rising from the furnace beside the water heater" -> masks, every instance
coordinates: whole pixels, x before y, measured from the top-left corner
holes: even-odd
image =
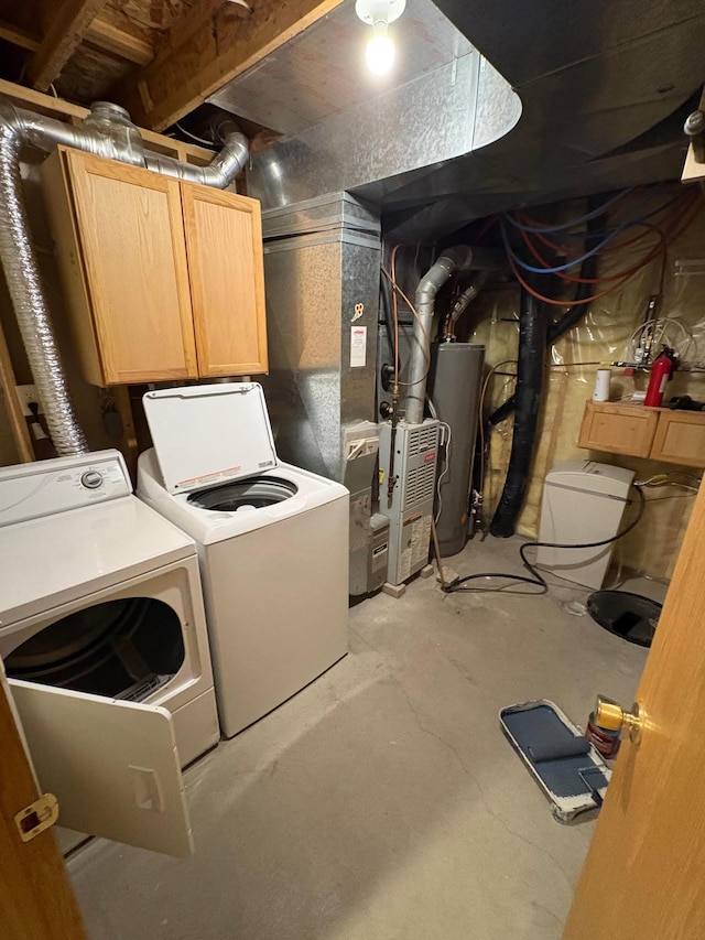
[[[406,392],[406,421],[420,424],[426,398],[426,379],[431,363],[431,328],[436,295],[446,281],[460,271],[500,271],[506,260],[500,252],[457,245],[447,248],[419,281],[414,304],[414,334],[409,359],[409,391]]]

